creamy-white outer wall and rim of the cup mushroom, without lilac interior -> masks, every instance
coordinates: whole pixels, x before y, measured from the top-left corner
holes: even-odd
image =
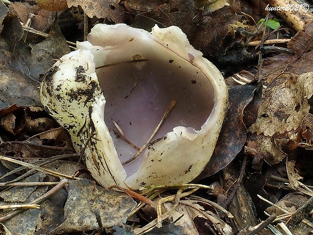
[[[138,189],[141,185],[171,185],[194,179],[210,160],[227,110],[228,91],[218,69],[202,58],[176,26],[154,26],[149,33],[125,24],[98,24],[77,49],[63,56],[45,75],[40,97],[44,108],[69,131],[75,150],[84,151],[86,166],[95,180],[102,186],[126,183]],[[120,49],[125,53],[118,55]],[[96,70],[106,64],[150,60],[151,55],[166,60],[170,55],[175,63],[195,67],[211,83],[214,105],[199,130],[181,125],[172,128],[135,160],[135,168],[126,172],[118,157],[116,139],[105,122],[106,93],[103,96]],[[140,73],[145,63],[132,65]]]

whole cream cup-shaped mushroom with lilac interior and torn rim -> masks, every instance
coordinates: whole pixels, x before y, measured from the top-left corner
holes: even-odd
[[[40,91],[95,180],[133,189],[194,179],[210,160],[228,100],[221,73],[176,26],[149,33],[97,24]]]

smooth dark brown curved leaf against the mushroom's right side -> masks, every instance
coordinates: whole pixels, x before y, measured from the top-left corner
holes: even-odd
[[[208,177],[223,169],[242,150],[247,139],[247,128],[243,118],[245,117],[245,120],[255,120],[255,117],[250,115],[254,113],[255,116],[255,110],[259,106],[259,88],[249,84],[236,85],[229,88],[229,110],[225,118],[226,121],[222,126],[210,162],[206,164],[196,180]],[[251,109],[249,111],[245,110],[248,105],[250,105],[249,108]]]

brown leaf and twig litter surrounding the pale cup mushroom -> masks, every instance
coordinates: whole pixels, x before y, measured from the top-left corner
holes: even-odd
[[[0,54],[0,153],[17,159],[9,163],[2,158],[7,169],[1,168],[0,185],[24,184],[0,192],[1,203],[37,202],[40,206],[15,209],[13,213],[10,209],[3,210],[3,215],[12,216],[1,217],[0,220],[6,218],[2,222],[3,231],[6,234],[85,231],[140,234],[138,231],[143,232],[145,224],[151,230],[145,230],[147,234],[254,234],[257,231],[272,234],[273,229],[305,234],[309,227],[312,229],[308,220],[311,209],[308,199],[313,196],[309,158],[313,138],[312,16],[306,13],[300,18],[299,12],[292,11],[299,17],[294,20],[288,14],[278,13],[291,27],[283,23],[285,28],[273,33],[266,25],[256,27],[255,22],[266,18],[268,13],[256,7],[265,9],[262,1],[256,1],[259,2],[256,5],[216,1],[215,6],[210,1],[198,0],[100,2],[68,0],[68,6],[74,7],[59,13],[20,2],[11,4],[8,10],[0,2],[3,52]],[[148,206],[144,207],[138,199],[134,209],[136,204],[129,196],[102,189],[92,180],[76,176],[68,179],[75,172],[88,178],[88,172],[84,165],[77,165],[81,156],[73,152],[68,134],[42,110],[38,92],[41,76],[70,51],[64,36],[69,37],[69,26],[63,23],[66,22],[62,21],[63,17],[76,22],[71,26],[75,28],[72,40],[75,36],[81,39],[97,22],[127,22],[148,30],[155,23],[160,27],[177,25],[193,46],[228,77],[230,108],[215,154],[195,180],[202,183],[202,189],[188,192],[194,195],[181,194],[191,184],[177,185],[183,191],[141,191],[160,205],[159,209],[150,206],[147,210]],[[49,32],[47,38],[31,33],[37,31],[29,27],[29,22],[32,28],[42,32],[40,35]],[[282,46],[293,51],[293,55],[276,51],[274,47],[271,53],[262,54],[258,48],[247,46],[250,40],[262,41],[261,32],[271,31],[273,34],[268,39],[276,37],[274,40],[279,41],[284,39],[283,35],[292,37]],[[257,57],[262,63],[257,63]],[[20,166],[19,160],[30,165]],[[36,201],[46,194],[44,200]],[[223,206],[226,212],[205,203],[208,199]],[[276,210],[266,209],[273,208],[276,202]],[[294,204],[289,209],[291,202]],[[245,216],[237,214],[238,211],[245,211]],[[233,217],[229,216],[230,212]],[[143,222],[153,218],[154,225]],[[258,224],[257,218],[264,221]],[[278,219],[285,223],[275,222]],[[131,222],[141,228],[129,227],[127,224]],[[305,226],[299,226],[303,223]],[[156,228],[156,225],[163,226]]]

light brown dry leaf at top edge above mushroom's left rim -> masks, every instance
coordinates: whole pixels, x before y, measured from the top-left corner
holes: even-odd
[[[81,6],[84,13],[93,18],[105,18],[114,23],[124,23],[124,7],[118,0],[67,0],[69,7]]]

